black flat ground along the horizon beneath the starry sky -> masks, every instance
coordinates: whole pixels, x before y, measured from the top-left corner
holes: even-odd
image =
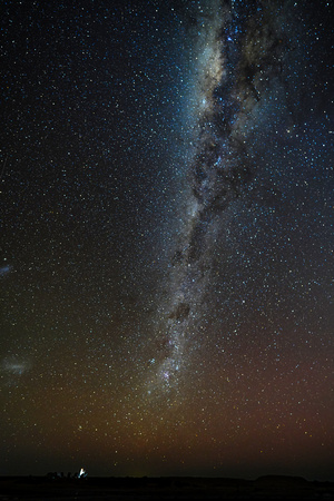
[[[334,482],[308,482],[295,477],[257,480],[202,478],[0,478],[0,501],[30,500],[334,500]]]

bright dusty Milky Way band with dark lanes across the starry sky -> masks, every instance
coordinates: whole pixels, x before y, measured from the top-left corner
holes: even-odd
[[[267,104],[277,100],[278,91],[284,99],[282,69],[288,47],[281,27],[288,10],[281,4],[208,1],[193,18],[187,11],[188,30],[196,31],[195,37],[189,33],[196,53],[187,166],[190,190],[185,228],[170,263],[169,297],[161,306],[164,354],[149,393],[178,387],[187,344],[209,287],[224,212],[249,190],[256,174],[256,122],[267,112]]]

